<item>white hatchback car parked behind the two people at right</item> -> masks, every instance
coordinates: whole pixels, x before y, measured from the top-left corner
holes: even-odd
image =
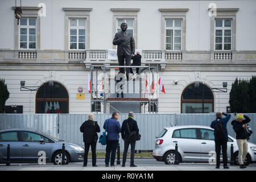
[[[165,127],[155,139],[152,155],[166,164],[175,162],[175,144],[177,143],[179,162],[209,162],[215,151],[214,130],[208,126],[173,126]],[[228,136],[228,160],[230,146],[234,146],[235,163],[238,164],[238,146],[233,137]],[[222,158],[221,158],[222,160]],[[256,144],[248,142],[246,164],[256,162]]]

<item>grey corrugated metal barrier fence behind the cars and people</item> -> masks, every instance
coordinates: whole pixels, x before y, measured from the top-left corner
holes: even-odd
[[[251,129],[255,131],[256,114],[246,114],[251,118],[249,123]],[[110,118],[110,114],[94,114],[94,121],[98,122],[101,133],[104,131],[104,121]],[[42,131],[53,137],[63,139],[84,146],[82,133],[79,128],[82,122],[86,121],[87,114],[0,114],[0,129],[25,128]],[[119,114],[118,121],[127,119],[127,114]],[[155,137],[168,126],[181,125],[204,125],[209,126],[210,122],[215,119],[215,114],[134,114],[134,119],[138,123],[141,140],[136,143],[136,150],[153,150],[155,147]],[[231,121],[236,119],[232,117],[228,123],[228,133],[235,137]],[[100,135],[98,134],[98,135]],[[255,132],[251,135],[249,142],[256,143]],[[123,141],[119,143],[123,149]],[[97,150],[105,150],[105,146],[97,144]]]

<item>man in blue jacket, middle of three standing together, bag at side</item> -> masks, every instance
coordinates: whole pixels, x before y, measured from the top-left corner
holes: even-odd
[[[114,112],[112,118],[106,119],[103,128],[107,132],[106,140],[106,157],[105,166],[109,166],[109,158],[111,152],[110,166],[113,167],[115,163],[115,152],[117,151],[117,146],[119,142],[119,133],[121,132],[121,126],[119,121],[117,121],[119,114]],[[106,124],[108,122],[108,124]]]

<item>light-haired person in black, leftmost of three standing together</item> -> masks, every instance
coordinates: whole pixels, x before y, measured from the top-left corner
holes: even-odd
[[[85,121],[80,126],[80,131],[83,133],[84,138],[84,167],[87,166],[88,161],[88,152],[89,148],[92,149],[92,165],[93,167],[97,167],[96,165],[96,144],[98,140],[98,135],[101,131],[100,126],[98,126],[97,121],[93,121],[93,113],[88,114],[88,121]]]

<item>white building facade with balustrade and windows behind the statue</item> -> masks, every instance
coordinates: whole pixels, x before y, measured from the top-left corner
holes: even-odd
[[[226,111],[232,82],[256,75],[254,7],[256,1],[242,0],[23,0],[18,24],[15,1],[1,1],[0,78],[10,92],[6,105],[21,105],[23,113],[45,113],[51,105],[62,113],[89,113],[95,106],[87,89],[91,65],[117,65],[108,51],[116,49],[115,32],[126,22],[142,65],[158,67],[156,89],[162,77],[166,94],[156,96],[158,113],[201,113],[203,87],[204,112]],[[21,91],[20,81],[39,90]],[[222,82],[227,92],[214,92]],[[104,113],[100,105],[92,111]]]

